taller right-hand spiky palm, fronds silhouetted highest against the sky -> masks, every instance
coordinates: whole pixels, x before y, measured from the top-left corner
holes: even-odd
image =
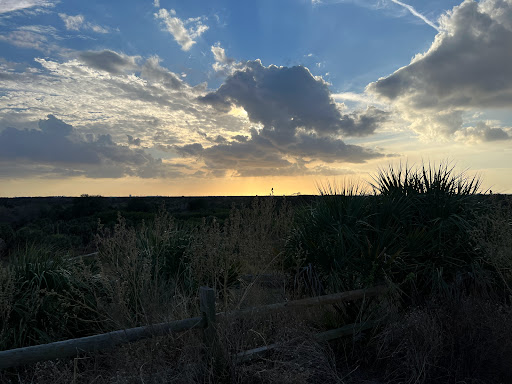
[[[371,186],[381,199],[409,200],[401,218],[407,229],[403,257],[393,268],[399,282],[424,293],[450,289],[460,276],[482,278],[481,254],[471,236],[484,208],[477,176],[456,173],[449,162],[405,169],[400,164],[379,169]]]

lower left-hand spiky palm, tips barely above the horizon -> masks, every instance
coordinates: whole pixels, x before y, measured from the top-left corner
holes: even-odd
[[[289,260],[300,249],[331,290],[382,280],[381,264],[400,253],[395,215],[376,216],[372,196],[358,185],[320,186],[320,196],[298,213],[287,244]],[[397,212],[398,213],[398,212]]]

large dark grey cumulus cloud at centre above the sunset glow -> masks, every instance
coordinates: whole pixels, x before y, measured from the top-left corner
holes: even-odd
[[[222,61],[223,52],[217,51]],[[221,114],[243,108],[251,123],[250,137],[234,135],[174,146],[182,156],[197,157],[215,175],[236,176],[332,174],[340,168],[317,163],[362,163],[384,156],[376,150],[346,144],[339,136],[365,136],[387,119],[374,107],[342,114],[327,83],[305,67],[264,67],[247,62],[219,89],[199,97]]]

